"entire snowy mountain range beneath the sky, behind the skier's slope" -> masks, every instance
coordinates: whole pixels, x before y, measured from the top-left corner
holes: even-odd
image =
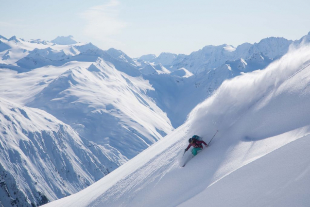
[[[309,39],[131,58],[72,36],[0,36],[0,204],[38,206],[85,188],[182,125],[225,80]]]

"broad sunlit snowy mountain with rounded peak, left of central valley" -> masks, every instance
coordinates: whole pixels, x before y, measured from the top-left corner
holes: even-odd
[[[27,105],[68,123],[121,165],[173,130],[148,90],[154,89],[142,77],[98,59],[64,72]]]

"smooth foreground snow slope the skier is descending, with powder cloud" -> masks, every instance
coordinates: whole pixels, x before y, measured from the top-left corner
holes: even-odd
[[[189,120],[100,181],[46,207],[308,206],[310,46],[225,81]],[[182,155],[198,134],[210,147]],[[189,156],[189,152],[184,157]]]

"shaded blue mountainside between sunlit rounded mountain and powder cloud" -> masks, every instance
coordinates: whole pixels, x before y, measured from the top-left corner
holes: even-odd
[[[155,90],[149,91],[156,104],[167,113],[173,127],[177,128],[186,120],[189,112],[209,97],[214,90],[230,78],[266,68],[273,60],[261,53],[250,58],[226,61],[222,66],[192,75],[186,69],[178,69],[169,75],[144,75]],[[142,72],[143,73],[143,72]],[[151,73],[144,73],[151,74]]]

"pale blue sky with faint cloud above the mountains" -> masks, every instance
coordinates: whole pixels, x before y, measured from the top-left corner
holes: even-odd
[[[0,35],[52,40],[73,35],[138,57],[235,47],[310,31],[309,0],[1,0]]]

